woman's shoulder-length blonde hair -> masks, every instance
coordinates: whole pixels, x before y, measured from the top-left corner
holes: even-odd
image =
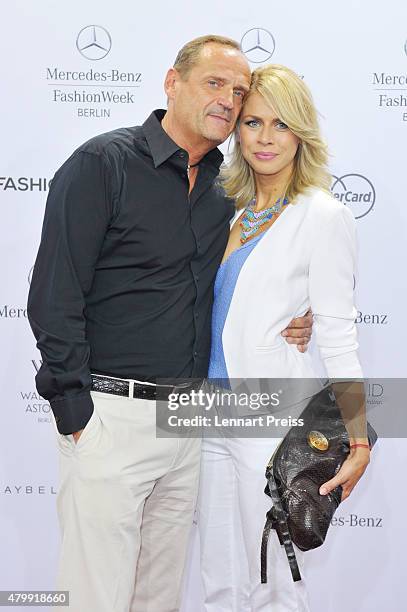
[[[282,195],[293,202],[309,187],[329,191],[328,149],[320,134],[311,92],[303,80],[286,66],[269,64],[252,73],[245,102],[253,93],[259,93],[277,117],[300,139],[294,170]],[[220,180],[226,195],[234,198],[237,208],[241,208],[255,197],[256,184],[254,172],[242,155],[238,133],[237,124],[231,161],[222,167]]]

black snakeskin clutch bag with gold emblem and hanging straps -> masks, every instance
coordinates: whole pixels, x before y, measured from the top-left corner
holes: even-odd
[[[315,395],[292,427],[266,468],[265,493],[273,506],[267,512],[261,546],[261,581],[267,582],[267,541],[275,529],[285,547],[294,581],[301,580],[293,543],[303,551],[323,544],[340,504],[342,487],[320,495],[320,486],[339,471],[349,454],[349,438],[332,387]],[[370,447],[377,434],[367,423]]]

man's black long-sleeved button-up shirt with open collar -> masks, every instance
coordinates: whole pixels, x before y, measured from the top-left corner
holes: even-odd
[[[207,374],[233,204],[215,181],[218,149],[188,195],[188,153],[161,127],[164,114],[92,138],[50,187],[28,317],[43,358],[37,389],[61,433],[92,414],[91,372],[150,382]]]

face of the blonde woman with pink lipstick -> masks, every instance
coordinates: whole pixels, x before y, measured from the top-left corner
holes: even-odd
[[[255,174],[288,181],[300,139],[258,93],[244,104],[239,123],[241,151]]]

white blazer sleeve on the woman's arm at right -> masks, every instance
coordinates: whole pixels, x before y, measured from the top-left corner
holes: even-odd
[[[335,206],[318,234],[309,267],[314,329],[329,378],[363,377],[353,302],[356,250],[356,221],[346,206]]]

